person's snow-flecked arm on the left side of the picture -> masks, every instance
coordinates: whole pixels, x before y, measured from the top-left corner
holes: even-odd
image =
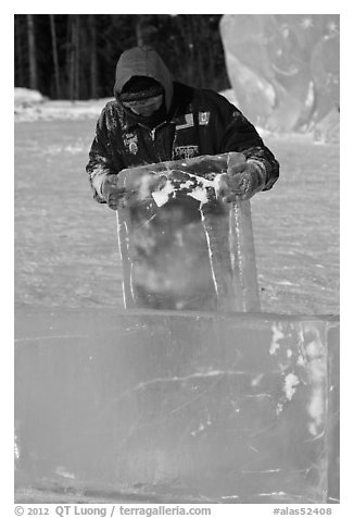
[[[99,203],[109,203],[109,207],[116,209],[113,202],[114,194],[121,194],[117,183],[117,174],[124,169],[123,162],[117,163],[117,158],[113,163],[111,141],[108,130],[108,118],[112,118],[106,108],[103,109],[96,126],[96,135],[89,152],[89,162],[86,172],[90,178],[90,185],[93,190],[93,198]],[[117,199],[119,196],[117,196]],[[111,205],[113,205],[111,207]]]

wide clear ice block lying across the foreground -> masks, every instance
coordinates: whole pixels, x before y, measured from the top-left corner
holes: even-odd
[[[338,393],[334,317],[20,308],[16,501],[338,502]]]

